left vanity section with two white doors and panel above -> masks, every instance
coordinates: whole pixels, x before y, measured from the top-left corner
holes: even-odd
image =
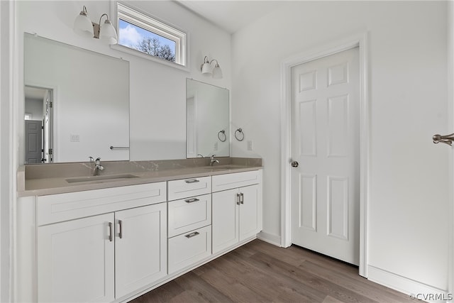
[[[165,277],[165,200],[165,182],[38,197],[38,302],[111,302]]]

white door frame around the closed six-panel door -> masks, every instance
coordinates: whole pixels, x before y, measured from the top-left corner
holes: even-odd
[[[281,63],[281,246],[292,245],[291,238],[291,70],[292,67],[344,50],[359,48],[360,52],[360,268],[367,277],[367,205],[369,201],[370,170],[370,104],[367,77],[367,32],[358,33],[334,43],[304,51]]]

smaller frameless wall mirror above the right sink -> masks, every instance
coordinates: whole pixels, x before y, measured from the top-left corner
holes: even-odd
[[[187,158],[228,157],[228,89],[186,80]]]

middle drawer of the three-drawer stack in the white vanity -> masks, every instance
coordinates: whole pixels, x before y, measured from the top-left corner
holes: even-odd
[[[211,224],[211,194],[168,202],[169,238]]]

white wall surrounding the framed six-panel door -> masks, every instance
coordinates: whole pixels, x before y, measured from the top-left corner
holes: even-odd
[[[232,122],[247,139],[233,142],[232,155],[263,158],[265,233],[280,236],[281,227],[281,62],[367,31],[369,265],[447,290],[450,149],[431,142],[452,131],[446,8],[443,1],[296,1],[233,35]]]

